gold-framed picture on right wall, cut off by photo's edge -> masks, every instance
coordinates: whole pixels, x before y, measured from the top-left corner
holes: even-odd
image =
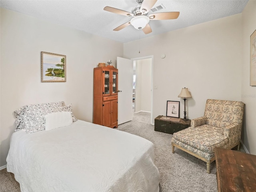
[[[250,86],[256,86],[256,30],[250,36]]]

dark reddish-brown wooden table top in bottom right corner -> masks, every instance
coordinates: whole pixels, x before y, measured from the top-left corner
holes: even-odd
[[[256,155],[215,149],[218,192],[256,192]]]

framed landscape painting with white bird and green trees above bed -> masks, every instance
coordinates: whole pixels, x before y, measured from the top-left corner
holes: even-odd
[[[41,82],[66,82],[66,56],[41,52]]]

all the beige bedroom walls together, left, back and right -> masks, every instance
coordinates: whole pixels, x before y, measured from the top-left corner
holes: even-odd
[[[249,79],[255,10],[256,1],[251,0],[242,14],[141,39],[138,54],[138,41],[123,45],[1,9],[0,166],[6,164],[15,129],[14,110],[64,100],[73,104],[77,118],[91,122],[92,69],[98,62],[116,61],[117,56],[154,56],[153,86],[158,89],[153,90],[153,119],[166,114],[167,100],[180,101],[183,117],[184,101],[178,98],[182,87],[192,94],[186,106],[190,119],[203,115],[207,98],[242,100],[246,104],[242,141],[256,154],[256,88]],[[67,82],[40,82],[41,51],[66,55]]]

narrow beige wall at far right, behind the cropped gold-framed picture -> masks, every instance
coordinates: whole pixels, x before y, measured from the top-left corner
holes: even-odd
[[[256,1],[248,2],[242,12],[242,102],[245,121],[242,141],[256,155],[256,86],[250,86],[250,35],[256,30]]]

